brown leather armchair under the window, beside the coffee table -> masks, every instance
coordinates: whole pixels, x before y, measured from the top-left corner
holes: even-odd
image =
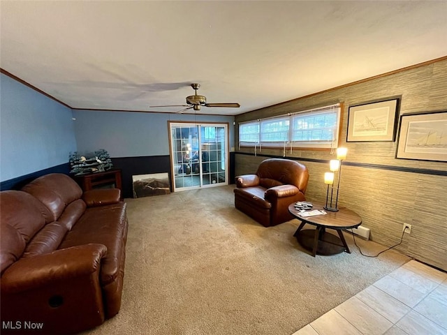
[[[289,221],[292,202],[305,200],[309,172],[305,165],[283,158],[262,161],[256,174],[236,177],[235,207],[269,227]]]

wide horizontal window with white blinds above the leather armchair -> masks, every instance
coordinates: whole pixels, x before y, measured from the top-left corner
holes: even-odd
[[[337,147],[340,105],[295,112],[239,125],[240,147]]]

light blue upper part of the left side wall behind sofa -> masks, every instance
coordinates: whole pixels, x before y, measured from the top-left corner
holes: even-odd
[[[0,181],[68,162],[72,110],[0,74]]]

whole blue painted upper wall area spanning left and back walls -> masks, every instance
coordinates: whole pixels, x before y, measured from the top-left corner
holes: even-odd
[[[168,156],[168,121],[228,123],[234,147],[234,117],[71,110],[0,74],[0,181],[67,164],[73,151],[106,149],[112,158]]]

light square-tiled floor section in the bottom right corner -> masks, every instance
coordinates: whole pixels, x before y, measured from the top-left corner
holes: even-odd
[[[293,335],[447,335],[447,274],[411,260]]]

